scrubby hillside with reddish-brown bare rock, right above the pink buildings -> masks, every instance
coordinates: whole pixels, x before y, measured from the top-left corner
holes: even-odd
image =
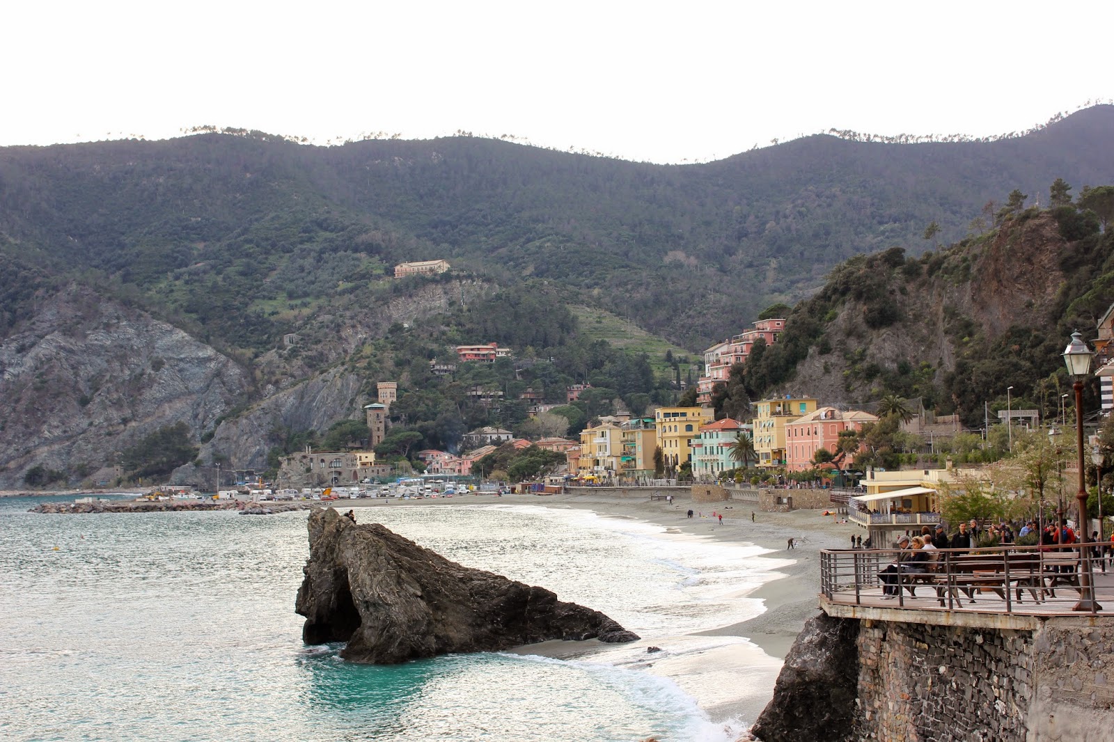
[[[948,248],[890,248],[838,266],[776,344],[733,369],[715,398],[721,413],[779,391],[867,409],[897,396],[980,429],[1013,387],[1015,408],[1055,418],[1071,388],[1061,359],[1071,333],[1093,339],[1114,303],[1114,231],[1103,228],[1114,187],[1071,203],[1062,191],[1051,209],[1017,196],[987,231]],[[1091,379],[1087,409],[1097,391]]]

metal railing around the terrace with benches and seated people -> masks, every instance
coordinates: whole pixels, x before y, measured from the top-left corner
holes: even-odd
[[[1073,612],[1089,592],[1089,612],[1114,615],[1114,554],[1095,544],[935,549],[935,559],[920,563],[908,560],[911,554],[824,549],[821,593],[844,605],[1040,615]]]

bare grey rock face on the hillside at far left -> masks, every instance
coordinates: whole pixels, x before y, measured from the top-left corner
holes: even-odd
[[[194,437],[251,385],[231,359],[150,315],[71,285],[0,342],[0,487],[36,463],[95,471],[158,428]]]

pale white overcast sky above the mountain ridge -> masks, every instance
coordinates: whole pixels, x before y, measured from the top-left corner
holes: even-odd
[[[512,135],[719,159],[829,128],[987,136],[1114,98],[1114,2],[9,2],[0,145]]]

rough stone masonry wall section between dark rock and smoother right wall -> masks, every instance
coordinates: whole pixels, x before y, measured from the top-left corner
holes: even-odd
[[[854,739],[1026,739],[1034,687],[1030,632],[861,623]]]

